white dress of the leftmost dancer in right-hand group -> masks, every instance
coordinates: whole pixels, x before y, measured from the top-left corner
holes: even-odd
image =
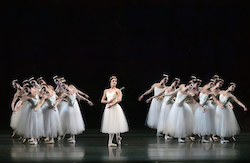
[[[154,96],[158,95],[163,91],[164,88],[158,88],[154,87]],[[146,125],[150,128],[157,129],[158,122],[159,122],[159,116],[161,112],[161,105],[162,105],[162,100],[158,100],[154,98],[149,107],[147,119],[146,119]]]

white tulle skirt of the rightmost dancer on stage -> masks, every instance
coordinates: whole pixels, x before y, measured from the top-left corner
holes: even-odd
[[[226,106],[224,109],[218,105],[215,113],[215,131],[220,137],[231,137],[240,132],[240,126],[237,122],[232,108]]]

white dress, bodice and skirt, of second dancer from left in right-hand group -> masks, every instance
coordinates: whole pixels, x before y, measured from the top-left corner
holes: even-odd
[[[167,91],[164,92],[164,95],[168,93]],[[164,96],[162,105],[161,105],[161,112],[159,116],[159,122],[157,126],[157,132],[164,132],[166,125],[167,125],[167,118],[170,112],[170,109],[173,106],[175,94],[170,96]],[[164,132],[165,133],[165,132]],[[167,133],[165,133],[167,134]]]

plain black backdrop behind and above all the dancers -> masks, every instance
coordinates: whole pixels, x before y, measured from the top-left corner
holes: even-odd
[[[100,128],[100,103],[115,74],[125,86],[122,107],[130,128],[144,125],[148,104],[141,93],[162,73],[183,83],[197,75],[205,84],[219,74],[237,83],[235,95],[250,108],[250,5],[248,1],[1,1],[1,130],[9,130],[13,79],[54,75],[89,94],[80,102],[86,129]],[[149,96],[148,96],[149,97]],[[146,99],[146,98],[145,98]],[[237,104],[242,132],[249,112]]]

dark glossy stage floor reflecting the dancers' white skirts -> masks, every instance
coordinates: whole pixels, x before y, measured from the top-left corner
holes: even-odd
[[[227,144],[220,141],[200,143],[198,138],[186,143],[156,137],[154,130],[134,129],[122,134],[122,145],[107,147],[106,134],[87,130],[75,144],[66,140],[55,144],[22,144],[9,132],[0,135],[1,162],[248,162],[250,133],[236,136]]]

